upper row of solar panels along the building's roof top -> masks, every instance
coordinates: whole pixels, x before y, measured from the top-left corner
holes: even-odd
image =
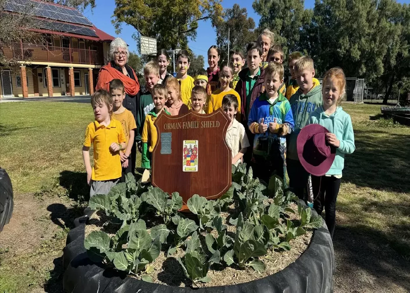
[[[30,13],[34,16],[51,18],[66,21],[68,23],[78,23],[82,25],[93,25],[87,18],[75,9],[68,9],[56,5],[50,5],[33,0],[6,0],[4,10]]]

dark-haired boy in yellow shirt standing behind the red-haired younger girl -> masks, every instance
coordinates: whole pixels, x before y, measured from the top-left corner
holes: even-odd
[[[189,61],[188,52],[186,50],[180,50],[177,54],[177,78],[181,82],[181,100],[186,105],[188,105],[191,99],[191,91],[194,87],[194,79],[188,75],[189,65],[191,65],[191,63]]]

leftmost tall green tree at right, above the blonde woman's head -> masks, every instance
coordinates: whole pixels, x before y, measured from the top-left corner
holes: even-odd
[[[304,0],[255,0],[252,7],[261,16],[258,31],[268,28],[274,32],[275,43],[283,46],[285,55],[297,47],[301,27],[312,17]]]

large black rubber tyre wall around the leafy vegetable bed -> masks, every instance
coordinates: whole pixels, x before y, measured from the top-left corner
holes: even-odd
[[[333,292],[335,257],[326,224],[314,231],[307,250],[294,263],[276,274],[243,284],[192,289],[147,283],[93,263],[84,248],[84,229],[91,213],[86,209],[85,214],[75,219],[75,228],[68,232],[64,248],[63,287],[66,293]],[[316,212],[312,210],[312,214]]]

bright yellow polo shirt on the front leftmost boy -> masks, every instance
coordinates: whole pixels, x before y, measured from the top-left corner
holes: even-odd
[[[91,179],[105,181],[121,177],[121,160],[118,152],[111,153],[109,146],[112,143],[125,142],[123,127],[118,120],[111,119],[107,127],[98,121],[91,122],[85,130],[84,146],[93,144],[94,166]]]

